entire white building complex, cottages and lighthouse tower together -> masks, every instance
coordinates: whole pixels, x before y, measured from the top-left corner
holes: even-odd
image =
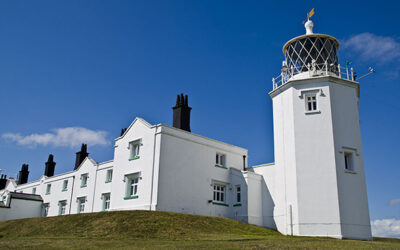
[[[312,26],[307,21],[307,34],[285,44],[269,93],[274,163],[247,167],[246,149],[191,133],[181,95],[173,127],[136,118],[115,139],[113,160],[95,162],[84,145],[74,171],[53,176],[51,156],[45,175],[25,183],[23,167],[19,181],[8,179],[0,191],[0,220],[145,209],[229,217],[286,235],[371,240],[359,84],[338,64],[339,42]],[[13,203],[19,193],[35,209]]]

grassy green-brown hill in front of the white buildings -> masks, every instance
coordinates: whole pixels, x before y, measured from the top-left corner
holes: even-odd
[[[0,249],[10,248],[400,249],[400,240],[291,237],[226,218],[121,211],[0,222]]]

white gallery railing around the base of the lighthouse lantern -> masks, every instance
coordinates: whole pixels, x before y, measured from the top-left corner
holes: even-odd
[[[356,81],[357,75],[354,72],[353,68],[342,67],[340,64],[328,64],[327,62],[323,64],[316,64],[313,62],[312,64],[307,64],[307,70],[299,69],[295,67],[288,68],[286,66],[286,62],[283,62],[282,72],[279,76],[272,78],[272,88],[276,89],[279,86],[287,83],[292,77],[299,74],[307,74],[309,77],[314,76],[336,76],[341,79],[346,79],[349,81]]]

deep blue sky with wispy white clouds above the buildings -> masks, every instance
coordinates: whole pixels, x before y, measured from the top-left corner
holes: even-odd
[[[171,124],[181,92],[193,132],[249,149],[250,165],[272,162],[267,93],[313,7],[339,61],[377,71],[360,83],[371,220],[400,223],[396,1],[0,1],[0,168],[28,163],[35,180],[53,153],[56,174],[70,171],[83,137],[96,161],[112,159],[136,116]]]

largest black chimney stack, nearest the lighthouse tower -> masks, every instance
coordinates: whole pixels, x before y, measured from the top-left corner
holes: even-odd
[[[176,105],[173,109],[173,122],[174,128],[190,131],[190,110],[188,96],[180,94],[176,98]]]

